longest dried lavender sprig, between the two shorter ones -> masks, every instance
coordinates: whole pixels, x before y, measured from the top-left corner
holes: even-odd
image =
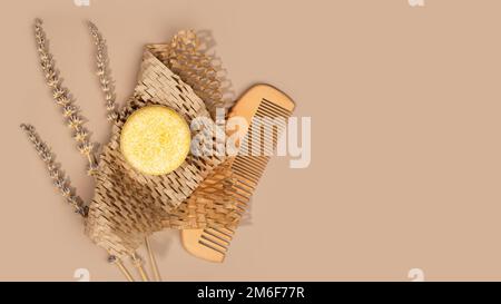
[[[89,166],[87,173],[94,175],[97,170],[97,161],[94,154],[95,144],[90,141],[89,131],[84,127],[84,118],[80,116],[79,109],[73,105],[68,88],[62,86],[62,80],[59,76],[59,71],[56,69],[55,60],[50,53],[42,21],[36,19],[35,39],[43,76],[46,77],[47,85],[52,90],[52,97],[56,104],[62,108],[62,115],[66,118],[68,127],[73,131],[73,138],[77,141],[79,151],[88,159]]]

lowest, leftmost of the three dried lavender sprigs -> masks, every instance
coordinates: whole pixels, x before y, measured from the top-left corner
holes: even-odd
[[[88,213],[88,206],[84,204],[84,200],[76,194],[75,188],[71,187],[69,180],[66,178],[65,173],[59,169],[56,164],[56,157],[50,151],[50,148],[40,139],[37,130],[31,125],[21,125],[21,129],[28,136],[28,139],[33,145],[40,158],[46,163],[47,170],[50,178],[52,178],[53,185],[59,189],[62,197],[75,208],[75,212],[86,217]]]

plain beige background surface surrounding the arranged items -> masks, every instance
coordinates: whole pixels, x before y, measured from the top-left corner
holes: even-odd
[[[90,199],[42,81],[32,20],[43,18],[94,139],[109,136],[84,21],[106,36],[119,99],[141,47],[210,30],[236,94],[273,84],[311,116],[313,159],[271,163],[227,261],[155,236],[168,281],[501,280],[501,1],[2,1],[0,280],[121,280],[51,186],[18,128],[33,124]]]

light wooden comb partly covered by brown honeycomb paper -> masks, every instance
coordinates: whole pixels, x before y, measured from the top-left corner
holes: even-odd
[[[233,171],[230,194],[242,213],[245,212],[257,187],[269,157],[276,148],[279,131],[286,127],[286,121],[294,107],[291,98],[276,88],[268,85],[256,85],[238,99],[228,115],[229,118],[242,117],[247,120],[247,127],[238,130],[240,138],[244,139],[237,144],[239,151],[229,165],[229,169]],[[281,117],[283,118],[282,124],[276,120]],[[274,120],[271,122],[263,120],[263,118]],[[274,124],[275,127],[271,125],[272,136],[266,136],[263,126],[266,127],[269,124]],[[266,145],[256,147],[255,140],[252,139],[257,134],[261,135],[261,144],[267,143]],[[257,150],[261,150],[258,155],[252,153]],[[205,229],[184,229],[181,231],[181,242],[185,249],[194,256],[222,263],[234,234],[234,229],[214,226],[208,226]]]

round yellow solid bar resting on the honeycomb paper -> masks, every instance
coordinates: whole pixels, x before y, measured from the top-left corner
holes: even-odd
[[[164,106],[146,106],[129,116],[120,134],[120,150],[137,170],[164,175],[178,168],[189,153],[186,120]]]

